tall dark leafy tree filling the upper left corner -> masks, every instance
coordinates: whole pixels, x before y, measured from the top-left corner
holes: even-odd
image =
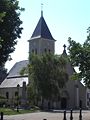
[[[22,21],[17,0],[0,0],[0,66],[4,67],[5,62],[10,60],[10,53],[15,50],[17,38],[22,33]]]

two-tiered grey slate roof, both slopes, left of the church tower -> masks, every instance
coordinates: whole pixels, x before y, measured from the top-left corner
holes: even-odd
[[[23,82],[26,82],[26,85],[28,84],[28,75],[20,75],[20,71],[27,67],[28,60],[23,60],[20,62],[17,62],[9,71],[8,76],[6,79],[1,83],[0,88],[10,88],[10,87],[17,87],[19,84],[20,87],[22,87]]]

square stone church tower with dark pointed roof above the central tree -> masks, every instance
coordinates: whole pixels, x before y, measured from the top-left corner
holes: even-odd
[[[39,22],[29,40],[29,54],[53,53],[55,52],[55,39],[44,20],[43,11],[41,10],[41,17]]]

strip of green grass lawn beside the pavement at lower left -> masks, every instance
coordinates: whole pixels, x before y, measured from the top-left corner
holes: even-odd
[[[16,114],[31,113],[36,111],[37,111],[36,109],[30,109],[30,110],[19,109],[19,112],[17,112],[17,110],[13,110],[10,108],[0,108],[0,113],[3,112],[4,115],[16,115]]]

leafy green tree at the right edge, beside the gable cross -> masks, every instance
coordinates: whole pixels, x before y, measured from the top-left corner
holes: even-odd
[[[90,88],[90,28],[88,33],[87,40],[83,44],[77,43],[69,37],[68,49],[72,65],[78,67],[80,71],[76,76],[83,79],[85,85]]]

